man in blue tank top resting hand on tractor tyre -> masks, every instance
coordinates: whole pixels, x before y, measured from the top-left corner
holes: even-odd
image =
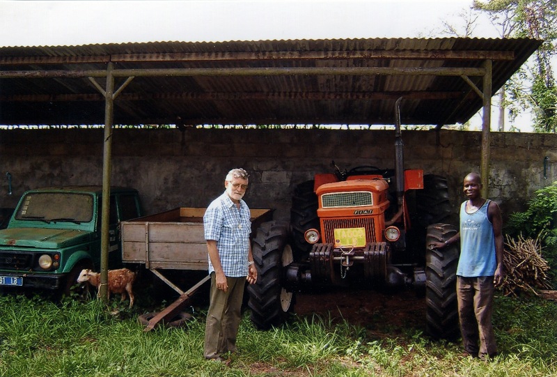
[[[484,199],[481,188],[478,174],[464,178],[468,200],[460,206],[460,232],[430,246],[442,248],[460,240],[457,301],[462,342],[468,355],[485,360],[497,353],[492,312],[494,287],[503,282],[503,221],[499,206]]]

